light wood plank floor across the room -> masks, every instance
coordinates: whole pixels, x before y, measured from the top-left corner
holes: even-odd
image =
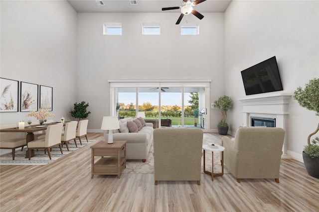
[[[103,134],[90,133],[88,138],[102,140]],[[0,211],[318,212],[319,179],[293,159],[282,159],[279,184],[273,179],[237,183],[231,174],[214,181],[202,174],[200,186],[186,181],[159,181],[155,186],[153,174],[91,179],[87,145],[45,166],[1,165]]]

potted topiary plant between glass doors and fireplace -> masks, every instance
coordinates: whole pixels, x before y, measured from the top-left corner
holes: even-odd
[[[221,112],[221,120],[217,124],[219,135],[227,135],[228,124],[226,122],[227,111],[233,106],[233,103],[229,96],[221,96],[214,101],[213,107],[218,108]]]

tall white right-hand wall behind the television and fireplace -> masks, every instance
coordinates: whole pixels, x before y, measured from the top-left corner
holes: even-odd
[[[224,79],[225,94],[234,101],[228,114],[233,133],[243,123],[238,99],[245,97],[245,91],[240,71],[273,56],[284,87],[279,92],[293,93],[319,77],[319,1],[233,0],[226,10]],[[289,110],[288,153],[302,161],[303,147],[319,118],[293,98]]]

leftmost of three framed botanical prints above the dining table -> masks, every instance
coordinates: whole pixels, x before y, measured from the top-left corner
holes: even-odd
[[[0,78],[0,112],[18,112],[19,81]]]

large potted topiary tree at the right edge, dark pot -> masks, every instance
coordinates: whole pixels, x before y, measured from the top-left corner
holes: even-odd
[[[306,83],[305,88],[298,87],[294,92],[294,99],[296,99],[300,106],[316,112],[319,116],[319,78],[313,78]],[[303,159],[309,175],[319,178],[319,138],[316,137],[312,143],[310,139],[313,135],[318,133],[319,124],[315,132],[308,136],[308,145],[303,151]]]

